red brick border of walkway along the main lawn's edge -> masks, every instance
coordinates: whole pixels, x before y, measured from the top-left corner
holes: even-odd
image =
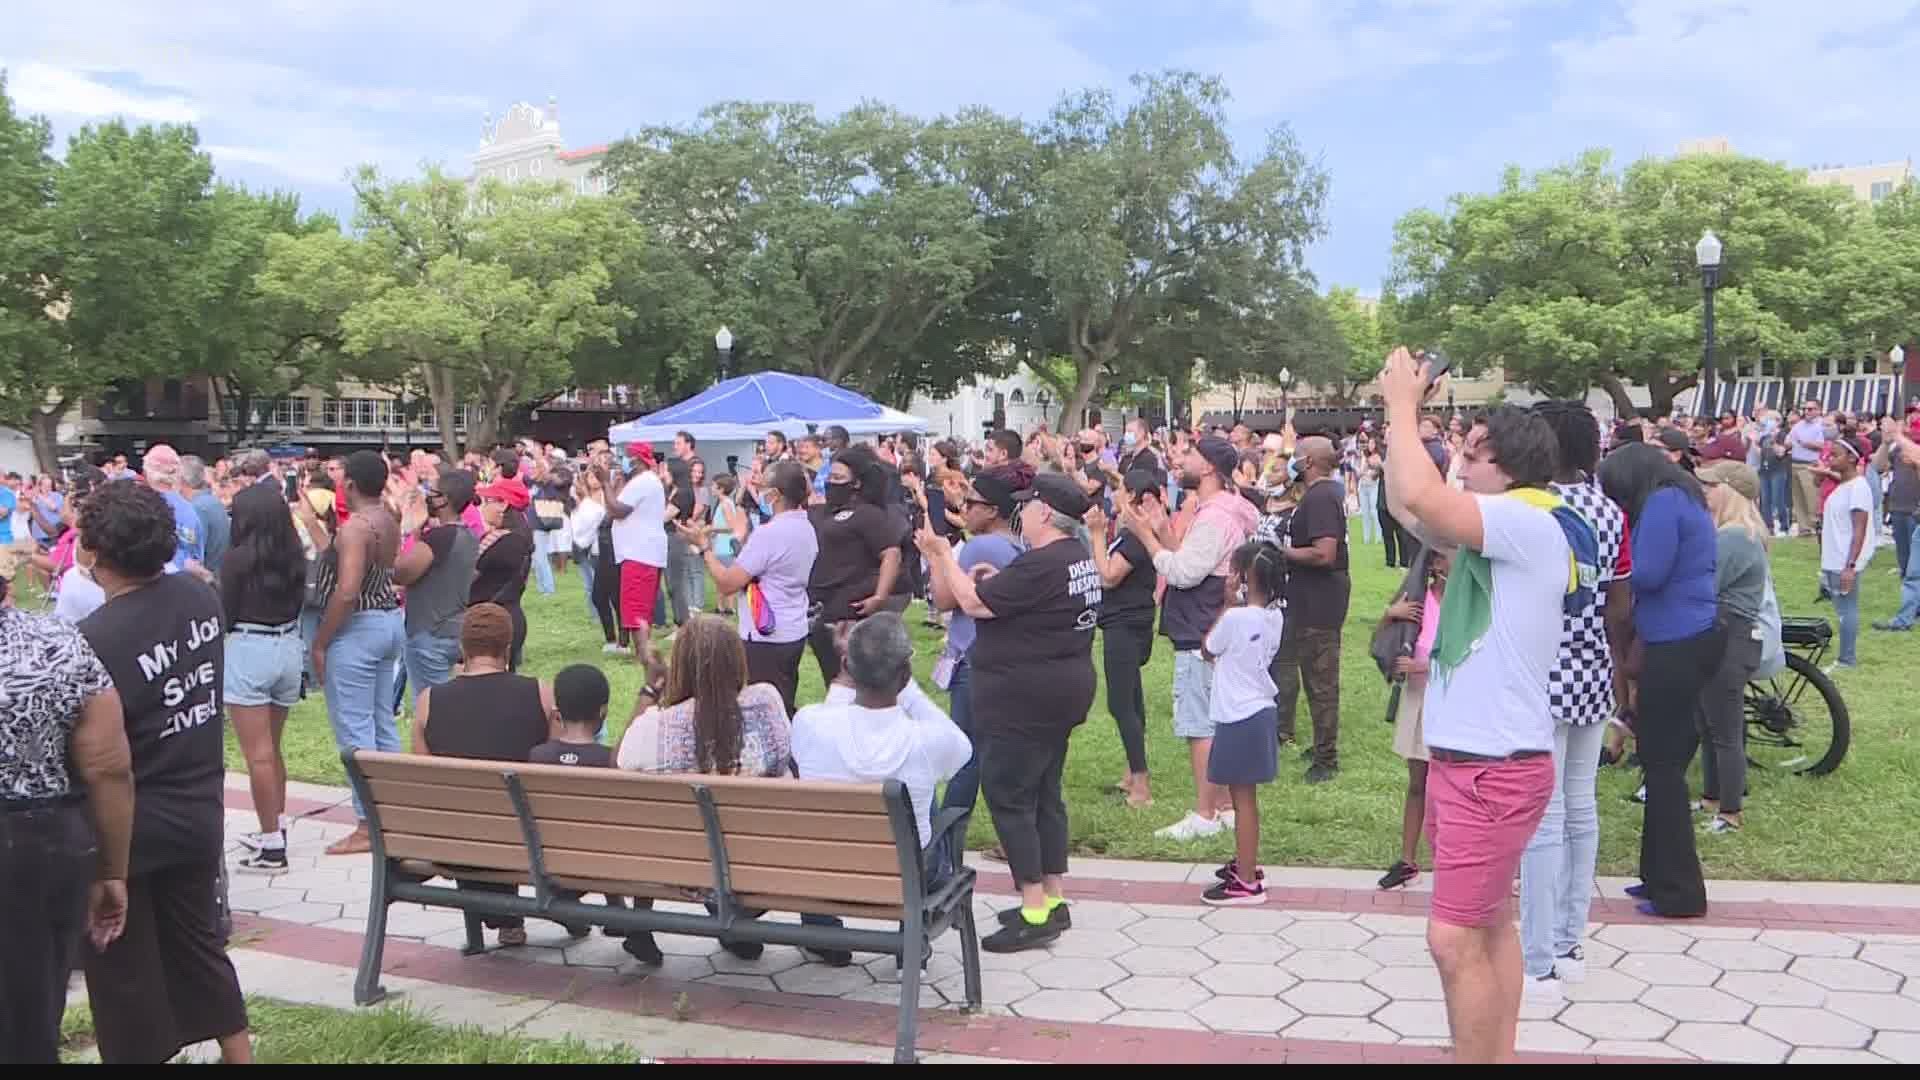
[[[227,809],[253,809],[252,796],[242,788],[227,788]],[[290,798],[286,811],[334,824],[353,824],[353,807]],[[1711,888],[1711,886],[1709,886]],[[1014,896],[1014,880],[993,867],[979,867],[979,890],[993,896]],[[1119,903],[1169,903],[1206,907],[1200,886],[1187,882],[1137,882],[1121,878],[1069,878],[1068,892],[1077,899],[1110,899]],[[1379,892],[1354,888],[1292,888],[1277,884],[1271,905],[1284,911],[1344,911],[1350,915],[1411,915],[1425,919],[1430,896],[1425,892]],[[1647,924],[1672,922],[1640,915],[1630,899],[1596,899],[1592,922]],[[1836,934],[1920,934],[1920,907],[1868,907],[1849,903],[1774,903],[1774,901],[1715,901],[1707,926],[1751,926],[1759,930],[1830,930]]]

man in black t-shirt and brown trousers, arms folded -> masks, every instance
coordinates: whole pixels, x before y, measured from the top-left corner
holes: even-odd
[[[1281,742],[1294,736],[1294,707],[1306,682],[1313,713],[1313,761],[1308,784],[1331,780],[1340,771],[1340,626],[1354,592],[1348,577],[1346,498],[1334,471],[1340,459],[1325,436],[1306,436],[1294,448],[1306,490],[1286,523],[1286,630],[1273,657]]]

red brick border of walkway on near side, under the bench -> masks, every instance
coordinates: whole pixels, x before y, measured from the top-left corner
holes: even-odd
[[[355,967],[361,934],[242,915],[234,920],[234,945],[336,967]],[[866,1045],[893,1045],[897,1024],[897,1011],[891,1005],[707,986],[645,974],[614,974],[603,969],[570,969],[518,959],[513,953],[463,957],[459,949],[405,940],[388,942],[384,974],[641,1017],[684,1017],[699,1024]],[[922,1055],[960,1053],[1077,1065],[1175,1065],[1188,1061],[1436,1065],[1450,1059],[1442,1047],[970,1017],[952,1011],[922,1011],[918,1049]],[[1523,1055],[1523,1061],[1538,1065],[1640,1065],[1649,1059],[1528,1053]]]

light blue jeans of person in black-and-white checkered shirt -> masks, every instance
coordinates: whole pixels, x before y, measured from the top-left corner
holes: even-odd
[[[1553,970],[1586,936],[1599,859],[1599,746],[1605,723],[1553,724],[1553,798],[1521,855],[1521,955],[1526,976]]]

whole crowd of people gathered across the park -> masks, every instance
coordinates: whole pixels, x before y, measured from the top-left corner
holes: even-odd
[[[1020,888],[983,947],[1018,951],[1071,928],[1062,774],[1104,682],[1127,761],[1116,796],[1154,805],[1148,717],[1169,711],[1194,801],[1158,836],[1231,832],[1202,899],[1263,903],[1260,788],[1288,744],[1306,782],[1340,773],[1359,517],[1361,544],[1377,538],[1407,571],[1373,640],[1407,759],[1380,888],[1419,878],[1425,840],[1455,1049],[1509,1057],[1521,1001],[1584,976],[1596,774],[1628,738],[1645,776],[1634,892],[1651,915],[1705,913],[1697,836],[1745,822],[1741,688],[1778,667],[1768,546],[1820,544],[1839,667],[1857,663],[1884,532],[1905,596],[1878,626],[1920,619],[1920,405],[1866,425],[1809,402],[1793,423],[1763,409],[1609,429],[1569,402],[1442,419],[1428,394],[1402,350],[1382,373],[1384,425],[1352,432],[1135,419],[1119,438],[995,430],[964,446],[856,444],[829,427],[770,432],[718,473],[691,432],[670,448],[522,442],[459,459],[246,450],[207,463],[152,446],[138,473],[115,455],[61,480],[8,477],[0,586],[35,582],[52,611],[0,609],[4,888],[46,928],[4,974],[19,1003],[6,1049],[50,1059],[79,965],[108,1061],[200,1040],[246,1061],[217,919],[221,721],[257,815],[234,869],[284,872],[280,746],[309,694],[342,749],[401,749],[411,713],[415,753],[897,778],[929,880],[962,857],[931,834],[931,811],[983,799],[991,855]],[[616,744],[597,667],[520,673],[528,580],[553,592],[572,571],[605,663],[645,675]],[[943,638],[931,680],[947,709],[912,671],[916,600]],[[1142,684],[1156,638],[1173,653],[1162,707]],[[828,692],[803,703],[808,653]],[[369,849],[361,824],[328,853]],[[526,940],[518,920],[490,926],[503,945]],[[624,947],[662,959],[645,934]]]

